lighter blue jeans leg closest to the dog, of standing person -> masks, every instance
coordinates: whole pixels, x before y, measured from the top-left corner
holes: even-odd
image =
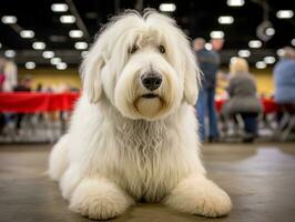
[[[206,115],[206,92],[204,89],[200,90],[196,102],[196,117],[199,120],[199,135],[201,141],[205,140],[205,115]]]

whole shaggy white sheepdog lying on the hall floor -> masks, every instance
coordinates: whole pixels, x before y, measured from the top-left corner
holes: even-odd
[[[114,18],[81,73],[84,92],[49,160],[71,211],[105,220],[148,201],[204,216],[230,212],[199,157],[200,74],[173,19],[153,10]]]

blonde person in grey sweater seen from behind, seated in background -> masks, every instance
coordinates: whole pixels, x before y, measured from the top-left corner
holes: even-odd
[[[241,114],[245,125],[244,142],[252,142],[257,135],[257,115],[262,112],[261,101],[256,97],[256,83],[248,72],[245,59],[235,58],[230,64],[230,99],[223,108],[223,114]]]

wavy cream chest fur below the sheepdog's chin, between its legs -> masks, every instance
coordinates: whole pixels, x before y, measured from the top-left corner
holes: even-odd
[[[120,183],[138,199],[159,201],[167,189],[161,178],[166,176],[161,168],[167,140],[164,121],[123,121],[115,125],[115,134],[124,157]]]

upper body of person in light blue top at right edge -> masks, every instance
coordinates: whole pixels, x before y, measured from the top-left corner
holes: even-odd
[[[295,50],[284,48],[284,54],[274,68],[275,102],[295,103]]]

